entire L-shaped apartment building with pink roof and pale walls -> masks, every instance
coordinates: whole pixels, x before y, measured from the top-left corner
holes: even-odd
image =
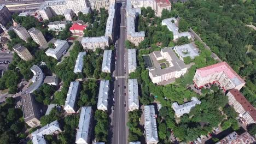
[[[245,81],[226,62],[197,69],[193,81],[197,88],[217,82],[224,91],[233,88],[240,90],[245,85]]]

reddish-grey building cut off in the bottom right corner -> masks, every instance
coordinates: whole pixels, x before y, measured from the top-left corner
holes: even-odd
[[[232,132],[228,136],[224,137],[222,140],[218,141],[216,144],[226,144],[226,143],[232,143],[232,144],[248,144],[248,143],[254,143],[256,139],[250,135],[247,131],[245,133],[242,133],[241,135],[238,135],[236,131]]]

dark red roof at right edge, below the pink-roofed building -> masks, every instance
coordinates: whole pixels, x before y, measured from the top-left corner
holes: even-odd
[[[245,96],[243,96],[243,94],[240,93],[237,89],[231,89],[229,92],[234,95],[235,99],[242,105],[243,109],[248,111],[253,120],[256,121],[256,110],[253,105],[249,103],[249,101],[245,98]]]

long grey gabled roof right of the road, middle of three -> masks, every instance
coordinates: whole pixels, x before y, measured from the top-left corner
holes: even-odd
[[[132,107],[138,109],[139,100],[138,100],[138,81],[137,79],[128,80],[128,91],[129,91],[129,109]]]

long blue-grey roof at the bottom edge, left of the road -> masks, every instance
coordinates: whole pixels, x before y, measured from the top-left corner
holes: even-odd
[[[83,106],[80,112],[79,124],[77,135],[75,137],[75,143],[87,143],[88,142],[88,134],[90,133],[90,125],[91,125],[91,115],[92,110],[91,106]]]

